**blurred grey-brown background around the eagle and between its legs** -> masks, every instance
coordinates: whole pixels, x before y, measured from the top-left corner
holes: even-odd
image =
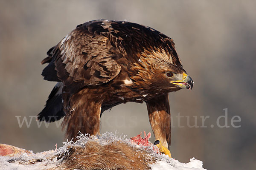
[[[128,20],[171,37],[195,82],[192,91],[169,95],[172,156],[181,162],[195,157],[209,170],[256,169],[255,7],[255,0],[1,0],[0,143],[34,152],[61,147],[60,126],[38,128],[34,117],[29,128],[19,127],[15,117],[36,116],[55,85],[41,77],[41,60],[76,25]],[[221,128],[216,122],[225,108],[230,127]],[[187,117],[179,122],[178,115]],[[205,127],[191,127],[195,119],[202,126],[200,116],[209,116]],[[231,126],[233,116],[240,116],[234,125],[241,127]],[[116,130],[127,137],[151,131],[145,103],[105,111],[101,132]]]

